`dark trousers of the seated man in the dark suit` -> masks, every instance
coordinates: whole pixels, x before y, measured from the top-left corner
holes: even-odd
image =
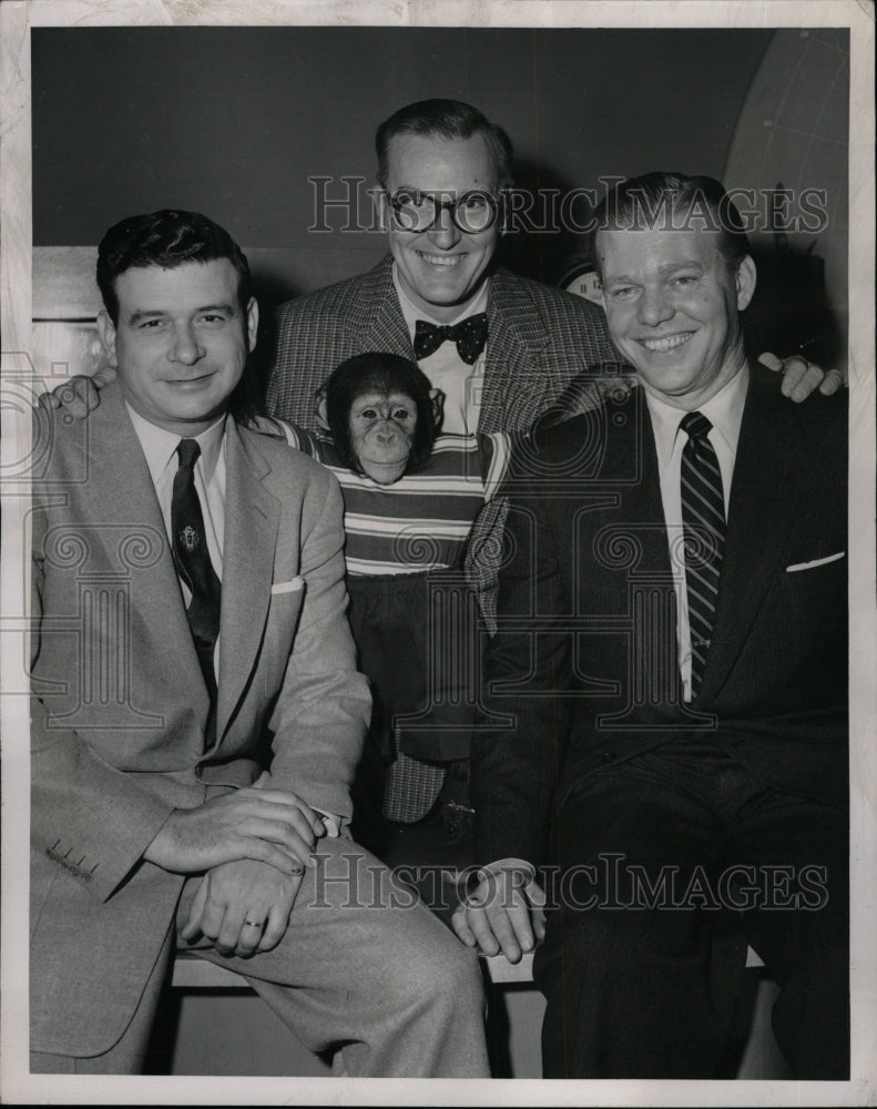
[[[583,779],[555,841],[534,967],[547,1078],[717,1077],[728,1019],[710,923],[727,912],[781,987],[794,1077],[849,1077],[845,811],[674,740]]]

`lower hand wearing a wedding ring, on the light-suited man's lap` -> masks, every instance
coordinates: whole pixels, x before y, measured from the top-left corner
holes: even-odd
[[[281,874],[266,863],[223,863],[201,879],[181,936],[188,943],[206,936],[220,955],[269,952],[286,934],[300,884],[300,873]]]

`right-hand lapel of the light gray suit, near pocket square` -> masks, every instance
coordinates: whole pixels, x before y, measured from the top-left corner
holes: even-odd
[[[274,580],[279,507],[265,489],[265,458],[232,419],[225,436],[225,539],[217,742],[228,726],[253,672]]]

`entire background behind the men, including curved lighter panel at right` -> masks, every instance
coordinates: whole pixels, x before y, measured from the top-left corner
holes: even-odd
[[[763,282],[748,326],[756,343],[776,338],[785,352],[815,336],[807,353],[835,364],[846,325],[848,54],[847,33],[829,29],[38,28],[34,316],[93,314],[93,254],[70,248],[93,250],[134,212],[191,207],[249,252],[259,358],[269,360],[274,305],[384,253],[368,194],[377,123],[441,95],[507,128],[518,184],[530,190],[599,191],[601,175],[654,169],[707,173],[756,190],[763,228],[764,191],[826,190],[828,227],[781,236],[784,257],[777,236],[756,236]],[[358,207],[319,213],[318,187],[335,200],[349,187]],[[513,269],[549,283],[588,250],[569,227],[502,246]],[[61,349],[44,329],[43,372],[82,365],[81,335],[69,354],[68,339]]]

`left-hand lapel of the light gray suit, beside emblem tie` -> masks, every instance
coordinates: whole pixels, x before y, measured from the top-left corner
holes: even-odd
[[[89,480],[84,496],[93,520],[131,521],[125,533],[94,529],[93,541],[104,547],[114,568],[130,574],[132,657],[150,669],[162,668],[170,688],[191,694],[195,711],[206,715],[207,691],[186,620],[164,519],[146,459],[128,416],[121,389],[108,386],[91,417],[101,421],[100,435],[89,442]],[[100,448],[95,442],[100,442]],[[169,649],[170,648],[170,649]],[[203,703],[202,703],[203,699]]]

